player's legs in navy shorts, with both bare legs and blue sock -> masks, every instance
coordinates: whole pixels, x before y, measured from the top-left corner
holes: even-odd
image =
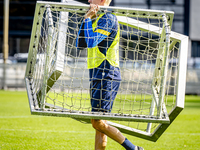
[[[102,84],[103,87],[101,86]],[[106,112],[110,112],[112,109],[113,101],[117,95],[119,85],[120,82],[115,81],[103,80],[103,83],[93,82],[93,85],[91,86],[93,87],[91,90],[92,111],[97,111],[99,109],[101,111],[104,110]],[[99,100],[101,101],[100,103]],[[92,119],[91,123],[94,129],[97,130],[95,136],[95,150],[105,149],[106,144],[104,144],[104,138],[106,135],[121,144],[127,150],[135,150],[135,145],[126,139],[117,128],[109,126],[106,121]]]

